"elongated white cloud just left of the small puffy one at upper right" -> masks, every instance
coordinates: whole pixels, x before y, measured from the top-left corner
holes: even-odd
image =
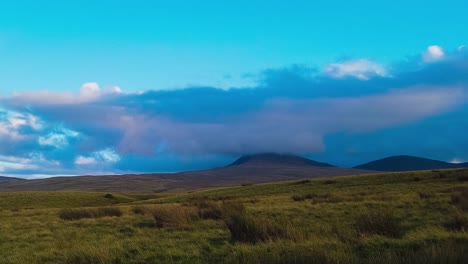
[[[372,76],[388,76],[387,69],[383,65],[366,59],[331,63],[326,65],[323,71],[333,78],[355,77],[368,80]]]

